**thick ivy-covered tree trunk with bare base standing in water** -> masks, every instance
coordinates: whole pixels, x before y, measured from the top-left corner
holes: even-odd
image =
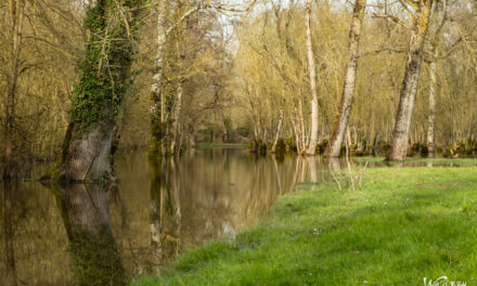
[[[141,0],[98,0],[85,20],[89,39],[79,61],[70,121],[59,169],[62,181],[114,178],[113,129],[128,87],[134,18]]]

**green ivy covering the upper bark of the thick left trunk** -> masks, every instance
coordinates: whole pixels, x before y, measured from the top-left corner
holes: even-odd
[[[85,18],[89,32],[85,55],[79,60],[70,122],[83,131],[99,123],[114,125],[129,86],[134,55],[134,13],[140,0],[99,0]],[[121,11],[120,11],[121,10]]]

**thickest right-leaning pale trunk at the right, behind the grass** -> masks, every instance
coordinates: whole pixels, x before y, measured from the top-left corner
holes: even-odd
[[[429,24],[431,6],[433,0],[420,0],[416,3],[411,29],[408,63],[405,65],[399,107],[396,115],[391,150],[387,156],[388,160],[402,161],[405,159],[408,153],[409,130],[411,128],[412,112],[417,93],[422,51]]]

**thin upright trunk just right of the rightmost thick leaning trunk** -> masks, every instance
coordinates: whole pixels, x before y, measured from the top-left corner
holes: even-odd
[[[434,56],[437,57],[437,46],[434,47]],[[429,66],[429,117],[427,123],[427,150],[429,157],[436,156],[436,98],[438,93],[437,86],[437,62],[433,61]]]

